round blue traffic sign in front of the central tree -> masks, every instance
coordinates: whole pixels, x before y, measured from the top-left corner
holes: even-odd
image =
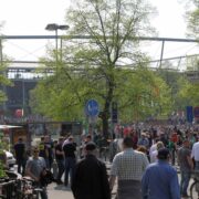
[[[85,105],[85,112],[86,112],[86,115],[88,115],[91,117],[97,116],[100,113],[98,103],[95,100],[87,101],[87,103]]]

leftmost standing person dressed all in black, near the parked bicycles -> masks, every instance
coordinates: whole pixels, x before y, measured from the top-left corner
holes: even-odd
[[[24,175],[25,169],[25,145],[23,143],[23,139],[20,137],[18,139],[18,143],[14,145],[14,155],[17,159],[18,165],[18,172]]]

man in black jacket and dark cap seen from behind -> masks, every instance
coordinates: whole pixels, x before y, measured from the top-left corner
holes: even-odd
[[[86,144],[85,157],[75,166],[71,189],[75,199],[111,199],[105,164],[95,156],[96,145]]]

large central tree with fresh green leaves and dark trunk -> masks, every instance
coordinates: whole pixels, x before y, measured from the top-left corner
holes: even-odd
[[[55,75],[39,84],[32,104],[53,118],[75,118],[84,115],[87,100],[96,98],[103,133],[107,135],[112,102],[117,101],[121,108],[128,105],[129,97],[124,92],[136,96],[142,91],[139,97],[146,97],[144,86],[149,84],[145,82],[154,81],[153,75],[143,77],[146,65],[142,62],[147,57],[138,51],[139,41],[135,39],[154,33],[149,24],[153,13],[155,10],[146,0],[74,1],[66,15],[73,38],[66,36],[62,50],[45,60],[46,65],[55,67]],[[126,69],[127,64],[134,69]]]

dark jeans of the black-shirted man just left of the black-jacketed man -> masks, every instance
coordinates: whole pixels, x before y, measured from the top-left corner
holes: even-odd
[[[76,159],[74,157],[65,157],[65,177],[64,177],[64,185],[67,186],[69,184],[69,175],[72,179],[74,174]]]

